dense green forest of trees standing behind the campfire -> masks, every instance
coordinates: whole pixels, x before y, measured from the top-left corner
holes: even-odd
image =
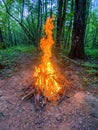
[[[98,58],[97,0],[0,0],[0,50],[39,48],[43,25],[52,15],[58,53]]]

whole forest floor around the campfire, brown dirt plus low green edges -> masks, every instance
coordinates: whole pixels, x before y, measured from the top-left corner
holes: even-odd
[[[0,130],[98,130],[98,70],[62,59],[71,87],[62,102],[35,111],[32,99],[21,100],[32,82],[36,57],[21,53],[0,70]]]

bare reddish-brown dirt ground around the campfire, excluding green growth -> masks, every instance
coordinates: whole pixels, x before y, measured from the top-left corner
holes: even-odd
[[[34,67],[28,64],[0,80],[0,130],[98,130],[98,97],[80,89],[73,69],[64,71],[72,91],[61,103],[50,102],[35,112],[33,100],[22,101],[23,89],[32,81]]]

